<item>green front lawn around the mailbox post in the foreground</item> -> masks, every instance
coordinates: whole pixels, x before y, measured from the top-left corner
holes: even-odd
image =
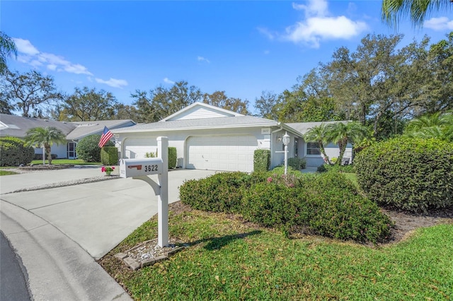
[[[130,271],[118,259],[156,237],[144,223],[101,261],[134,300],[448,300],[453,225],[421,228],[403,242],[368,247],[280,232],[222,213],[170,214],[170,236],[190,247]]]

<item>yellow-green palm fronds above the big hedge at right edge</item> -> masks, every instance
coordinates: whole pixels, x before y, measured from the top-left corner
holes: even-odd
[[[453,111],[414,118],[408,123],[406,136],[418,138],[438,138],[453,142]]]

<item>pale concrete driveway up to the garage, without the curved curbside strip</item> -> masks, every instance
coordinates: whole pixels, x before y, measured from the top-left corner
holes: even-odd
[[[0,178],[1,200],[24,208],[55,225],[93,258],[99,259],[157,213],[157,196],[138,179],[110,179],[53,189],[9,193],[40,184],[101,176],[100,167],[32,172]],[[168,172],[168,202],[179,199],[187,179],[213,175],[210,170]],[[150,176],[157,181],[157,175]]]

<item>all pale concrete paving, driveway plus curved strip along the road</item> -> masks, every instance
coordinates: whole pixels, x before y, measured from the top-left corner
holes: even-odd
[[[117,178],[8,194],[100,176],[100,170],[71,168],[0,177],[0,230],[21,257],[35,300],[130,300],[94,259],[157,213],[157,196],[147,183]],[[178,187],[186,179],[212,174],[169,172],[169,202],[178,200]]]

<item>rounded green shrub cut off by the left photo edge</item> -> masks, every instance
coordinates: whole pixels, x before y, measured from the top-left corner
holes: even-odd
[[[0,138],[0,166],[26,165],[33,161],[35,150],[16,137]]]

